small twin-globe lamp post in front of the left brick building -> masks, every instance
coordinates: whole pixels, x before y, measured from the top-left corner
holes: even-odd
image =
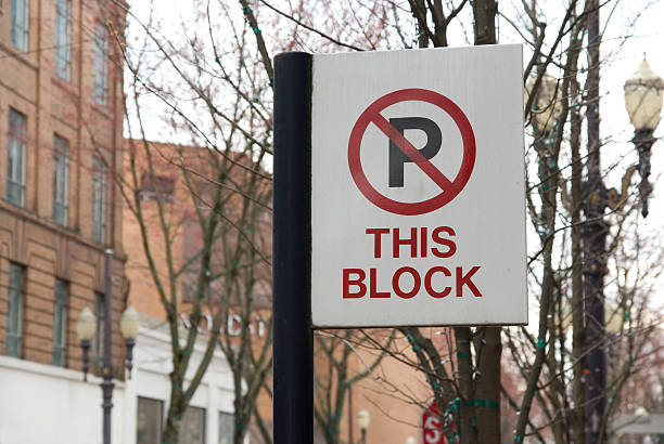
[[[103,408],[103,444],[111,444],[111,410],[113,408],[113,364],[111,362],[111,325],[112,325],[112,280],[111,280],[111,260],[113,250],[105,251],[105,298],[104,298],[104,334],[103,334],[103,363],[102,363],[102,408]],[[76,332],[82,349],[82,370],[84,380],[88,380],[89,350],[90,341],[94,337],[97,329],[97,316],[88,309],[84,308],[76,319]],[[139,329],[139,315],[131,305],[125,310],[120,318],[120,332],[127,345],[127,357],[125,365],[131,373],[132,349]],[[130,376],[130,375],[129,375]]]

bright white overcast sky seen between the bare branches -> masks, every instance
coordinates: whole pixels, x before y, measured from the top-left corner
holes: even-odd
[[[544,3],[547,14],[544,19],[550,24],[547,28],[548,34],[554,34],[554,28],[560,22],[559,14],[564,12],[561,8],[561,4],[564,4],[563,2],[566,3],[566,0],[549,0]],[[132,0],[130,3],[135,13],[142,17],[145,16],[146,5],[150,2]],[[283,2],[274,0],[273,3]],[[514,5],[520,3],[520,0],[503,0],[499,8],[506,15],[513,18]],[[188,4],[193,3],[187,1],[159,0],[157,4],[159,8],[156,13],[164,25],[162,30],[166,32],[167,29],[169,36],[177,35],[177,27],[174,26],[177,25],[181,16],[191,17],[196,14],[193,6],[188,10]],[[169,4],[171,6],[168,6]],[[228,4],[240,12],[239,2],[235,4],[235,2],[229,1]],[[467,44],[469,24],[472,23],[470,18],[470,8],[467,8],[463,17],[467,31],[463,32],[458,26],[450,28],[449,40],[451,45]],[[651,68],[664,77],[664,1],[612,0],[608,2],[608,6],[601,10],[601,21],[604,30],[601,47],[604,66],[601,73],[602,101],[600,114],[602,118],[601,138],[605,142],[602,155],[604,166],[621,156],[625,156],[620,168],[616,168],[606,181],[608,187],[620,188],[621,177],[625,168],[636,164],[638,159],[635,147],[630,143],[634,128],[631,128],[625,110],[623,84],[638,68],[643,60],[643,54],[646,54]],[[498,29],[501,43],[519,41],[519,37],[510,30],[510,25],[505,19],[500,19]],[[173,30],[173,34],[170,34],[170,30]],[[136,29],[130,28],[130,31],[136,31]],[[625,39],[628,36],[629,38]],[[584,57],[583,63],[585,64],[585,54],[582,54],[582,57]],[[154,128],[156,129],[157,126]],[[159,132],[157,131],[155,134],[159,134]],[[655,138],[662,138],[663,135],[664,123],[655,131]],[[664,226],[664,180],[659,179],[664,174],[664,140],[656,142],[652,152],[651,182],[654,184],[654,193],[650,203],[650,216],[640,223],[643,224],[644,230],[661,230]],[[635,174],[633,184],[638,183],[637,181],[638,175]],[[657,299],[664,303],[664,290],[659,291]]]

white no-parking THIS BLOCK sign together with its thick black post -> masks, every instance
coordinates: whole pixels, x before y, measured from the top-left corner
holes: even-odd
[[[274,442],[312,441],[312,329],[527,323],[522,77],[521,45],[274,58]]]

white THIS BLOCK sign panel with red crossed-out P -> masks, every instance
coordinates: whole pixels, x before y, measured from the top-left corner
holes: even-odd
[[[314,326],[527,324],[522,48],[314,55]]]

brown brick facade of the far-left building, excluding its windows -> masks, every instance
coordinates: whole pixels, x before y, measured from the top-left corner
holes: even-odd
[[[106,179],[104,241],[92,238],[93,158],[108,171],[122,167],[123,82],[114,29],[124,29],[122,10],[113,2],[71,1],[71,76],[54,67],[55,1],[24,0],[28,44],[22,51],[11,38],[12,3],[0,2],[0,354],[5,354],[10,263],[24,267],[22,348],[24,360],[51,364],[55,279],[67,283],[65,366],[80,369],[76,317],[94,310],[94,293],[104,291],[103,253],[113,248],[113,352],[120,362],[119,314],[125,254],[122,247],[122,198]],[[100,4],[102,8],[100,8]],[[103,5],[105,4],[105,9]],[[107,101],[93,100],[94,29],[108,28]],[[25,205],[5,199],[10,109],[26,117]],[[53,221],[53,145],[68,142],[68,214],[66,226]]]

